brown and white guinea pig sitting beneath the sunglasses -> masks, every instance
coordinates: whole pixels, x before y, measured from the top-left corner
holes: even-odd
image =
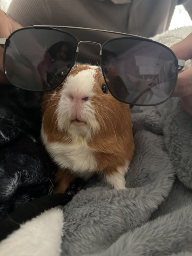
[[[61,87],[45,93],[42,112],[41,139],[58,165],[55,193],[94,173],[125,188],[134,154],[130,109],[107,90],[99,67],[71,71]]]

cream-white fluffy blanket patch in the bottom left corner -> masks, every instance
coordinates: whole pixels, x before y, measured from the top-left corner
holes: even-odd
[[[0,255],[4,256],[59,256],[63,235],[64,215],[52,208],[21,225],[1,241]]]

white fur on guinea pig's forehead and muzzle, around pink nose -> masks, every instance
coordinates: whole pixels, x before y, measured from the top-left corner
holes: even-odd
[[[82,70],[75,76],[69,76],[65,83],[64,89],[61,91],[61,98],[57,108],[57,122],[60,131],[68,131],[72,138],[76,135],[86,137],[87,140],[99,129],[99,123],[95,118],[95,109],[91,99],[94,96],[94,75],[95,69]],[[79,98],[88,97],[88,100],[77,105],[76,108],[81,108],[81,119],[87,125],[76,127],[71,124],[73,103],[70,100],[71,95],[78,95]]]

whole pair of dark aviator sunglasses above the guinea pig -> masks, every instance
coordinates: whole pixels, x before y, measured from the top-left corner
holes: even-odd
[[[62,84],[78,60],[100,66],[116,99],[140,106],[166,101],[184,65],[169,47],[156,41],[99,29],[25,27],[1,38],[0,45],[7,79],[17,87],[52,90]]]

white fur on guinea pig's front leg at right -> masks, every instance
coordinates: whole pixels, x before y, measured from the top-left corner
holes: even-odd
[[[113,186],[114,189],[125,189],[125,174],[128,172],[130,162],[126,161],[126,165],[117,168],[117,171],[111,175],[106,175],[105,180]]]

